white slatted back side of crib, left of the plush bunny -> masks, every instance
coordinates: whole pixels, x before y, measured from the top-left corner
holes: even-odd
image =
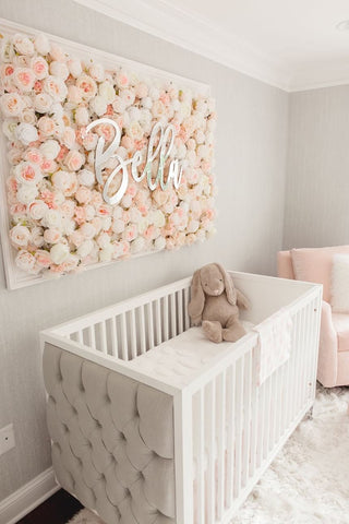
[[[186,331],[190,279],[62,324],[56,332],[82,346],[130,360]]]

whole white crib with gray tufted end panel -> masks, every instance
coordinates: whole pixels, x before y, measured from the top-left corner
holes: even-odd
[[[254,331],[188,332],[191,278],[41,332],[58,483],[107,524],[229,523],[312,406],[322,287],[230,274],[243,320],[292,317],[290,358],[262,385]]]

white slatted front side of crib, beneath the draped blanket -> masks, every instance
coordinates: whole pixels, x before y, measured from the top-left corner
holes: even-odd
[[[250,340],[192,391],[192,461],[186,457],[186,463],[194,467],[184,475],[192,475],[194,523],[228,523],[311,407],[320,303],[315,290],[292,308],[290,358],[261,385]]]

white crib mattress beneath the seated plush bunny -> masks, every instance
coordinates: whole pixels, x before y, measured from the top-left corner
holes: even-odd
[[[254,326],[251,322],[242,322],[246,332]],[[215,344],[208,341],[202,327],[190,327],[180,335],[152,348],[144,355],[129,360],[130,368],[142,371],[149,377],[166,380],[170,385],[189,384],[219,354],[227,352],[231,343]]]

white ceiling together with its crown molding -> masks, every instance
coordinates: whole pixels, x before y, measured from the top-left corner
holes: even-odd
[[[349,0],[76,0],[287,91],[349,83]]]

